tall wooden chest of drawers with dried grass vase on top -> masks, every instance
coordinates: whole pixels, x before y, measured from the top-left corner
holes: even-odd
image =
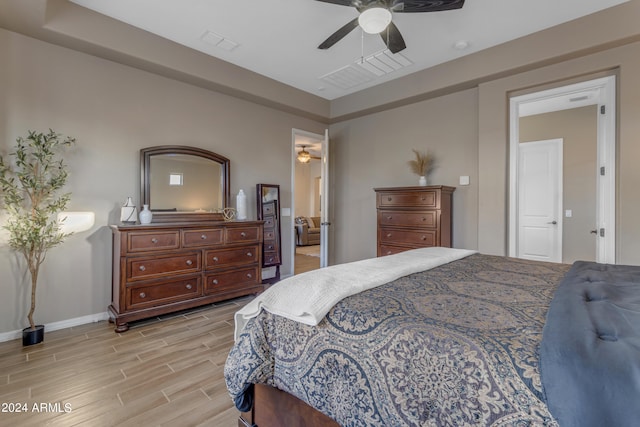
[[[429,246],[451,247],[455,187],[376,188],[378,256]]]

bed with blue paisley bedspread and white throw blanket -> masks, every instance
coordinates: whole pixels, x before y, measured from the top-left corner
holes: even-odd
[[[401,268],[388,281],[375,273],[377,262],[386,263],[380,267],[386,271],[433,250],[438,258],[444,251],[444,262],[408,274]],[[311,316],[307,308],[291,315],[270,307],[278,285],[252,301],[236,315],[236,343],[225,365],[227,388],[244,413],[239,425],[565,427],[640,419],[638,267],[571,267],[468,251],[452,260],[448,251],[368,260],[361,268],[384,283],[331,295]],[[347,268],[333,272],[339,286],[354,280]],[[331,267],[324,270],[330,277]],[[282,286],[289,296],[313,281],[294,277]],[[319,289],[311,286],[293,299],[312,299]],[[285,306],[291,305],[287,295]],[[597,304],[606,301],[609,309]],[[604,320],[593,320],[596,311]],[[585,340],[595,350],[585,351]],[[541,366],[548,372],[544,383]],[[586,385],[580,372],[589,373]]]

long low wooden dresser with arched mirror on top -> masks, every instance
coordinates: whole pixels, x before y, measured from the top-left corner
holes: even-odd
[[[111,226],[116,332],[130,321],[261,292],[262,224]]]

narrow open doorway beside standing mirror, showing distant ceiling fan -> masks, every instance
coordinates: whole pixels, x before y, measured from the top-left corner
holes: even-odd
[[[293,137],[293,274],[327,265],[328,208],[326,135],[294,129]]]

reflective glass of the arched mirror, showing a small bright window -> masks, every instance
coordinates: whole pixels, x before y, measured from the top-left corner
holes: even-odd
[[[188,154],[157,154],[150,166],[152,211],[216,212],[224,207],[219,163]]]

